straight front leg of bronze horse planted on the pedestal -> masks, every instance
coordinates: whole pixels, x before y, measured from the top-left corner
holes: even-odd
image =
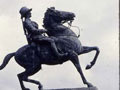
[[[77,71],[80,73],[80,75],[82,77],[83,83],[87,84],[88,87],[92,87],[93,85],[86,80],[86,78],[85,78],[85,76],[84,76],[84,74],[82,72],[82,69],[81,69],[81,66],[80,66],[80,63],[79,63],[79,59],[78,59],[77,53],[71,52],[71,54],[70,54],[70,60],[75,65]]]

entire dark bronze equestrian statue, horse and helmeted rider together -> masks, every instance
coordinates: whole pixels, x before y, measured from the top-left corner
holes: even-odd
[[[41,70],[43,64],[58,65],[66,61],[71,61],[79,72],[83,83],[88,87],[93,87],[84,76],[78,55],[96,51],[93,60],[86,66],[86,69],[90,69],[95,65],[100,51],[98,47],[83,46],[77,35],[70,28],[63,25],[66,21],[74,20],[74,13],[56,10],[55,8],[48,8],[45,12],[43,21],[44,28],[47,29],[46,31],[38,29],[38,24],[31,21],[31,10],[32,9],[26,7],[20,9],[23,28],[28,44],[22,46],[16,52],[7,54],[3,63],[0,65],[0,70],[2,70],[8,64],[10,59],[14,57],[15,61],[25,69],[25,71],[17,75],[21,89],[30,90],[25,87],[25,81],[38,85],[39,90],[42,90],[42,84],[39,81],[30,79],[29,76],[32,76]],[[49,37],[43,36],[43,33],[47,33]],[[55,40],[50,36],[58,39]],[[52,49],[49,44],[46,44],[46,42],[51,44]],[[33,47],[33,43],[35,43],[35,47]],[[56,46],[64,54],[58,53]],[[39,48],[40,50],[38,50]],[[67,56],[61,58],[56,57],[64,56],[66,52],[68,53]]]

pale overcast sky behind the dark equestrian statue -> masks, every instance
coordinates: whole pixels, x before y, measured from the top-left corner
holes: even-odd
[[[118,90],[118,0],[0,0],[0,64],[8,53],[26,44],[19,9],[33,8],[32,20],[42,28],[44,12],[55,6],[58,10],[76,14],[73,25],[81,28],[79,40],[85,46],[98,46],[100,55],[96,65],[86,71],[85,66],[95,52],[79,56],[79,61],[88,81],[99,90]],[[77,29],[72,28],[78,34]],[[39,80],[44,88],[85,87],[74,65],[42,66],[42,70],[30,78]],[[11,59],[0,71],[0,90],[21,90],[17,74],[24,71]],[[25,83],[31,90],[37,86]]]

